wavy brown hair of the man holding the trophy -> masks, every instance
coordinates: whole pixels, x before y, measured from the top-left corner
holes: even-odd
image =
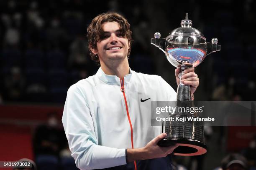
[[[97,42],[102,40],[102,25],[107,22],[118,23],[120,28],[120,34],[128,39],[128,43],[130,45],[127,57],[129,57],[131,53],[132,32],[130,30],[130,24],[128,23],[128,21],[118,13],[102,13],[95,17],[90,23],[90,25],[87,27],[88,48],[90,50],[90,56],[92,60],[97,63],[97,65],[100,65],[100,60],[97,54],[92,53],[92,49],[97,49]]]

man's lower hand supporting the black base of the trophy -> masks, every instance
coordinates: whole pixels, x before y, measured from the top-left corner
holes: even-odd
[[[157,143],[166,137],[166,133],[158,135],[156,138],[151,140],[145,147],[138,149],[127,149],[127,161],[131,163],[135,160],[147,160],[153,158],[166,157],[173,152],[178,145],[169,147],[160,147]]]

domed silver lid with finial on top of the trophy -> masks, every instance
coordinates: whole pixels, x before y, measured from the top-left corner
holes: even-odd
[[[192,20],[188,19],[188,13],[186,13],[186,18],[185,18],[185,20],[181,21],[180,25],[181,25],[181,27],[173,30],[166,37],[166,40],[168,40],[169,37],[174,37],[174,36],[179,36],[179,35],[186,35],[186,36],[193,35],[193,36],[202,38],[203,40],[206,41],[206,38],[204,37],[204,35],[202,35],[202,33],[199,30],[192,27]]]

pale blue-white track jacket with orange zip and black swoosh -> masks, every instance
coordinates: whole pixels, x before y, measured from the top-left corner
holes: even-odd
[[[62,122],[77,167],[125,165],[125,148],[142,148],[159,135],[161,127],[151,126],[151,100],[174,101],[176,92],[160,76],[132,70],[120,79],[99,68],[72,85]]]

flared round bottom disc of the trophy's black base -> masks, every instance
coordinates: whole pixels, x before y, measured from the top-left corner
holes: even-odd
[[[196,156],[202,155],[207,152],[206,145],[198,140],[187,139],[187,138],[165,138],[160,140],[157,145],[161,147],[179,145],[174,149],[174,155],[178,156]]]

